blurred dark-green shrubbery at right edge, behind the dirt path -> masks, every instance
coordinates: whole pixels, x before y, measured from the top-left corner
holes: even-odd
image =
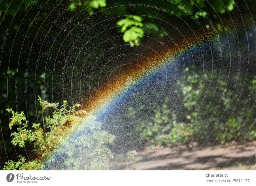
[[[189,75],[182,86],[182,91],[184,111],[188,113],[190,125],[195,128],[191,136],[192,139],[200,141],[200,143],[215,140],[220,143],[232,140],[253,140],[255,136],[252,135],[252,132],[256,128],[252,124],[253,113],[249,111],[253,108],[252,105],[250,106],[251,103],[246,108],[246,114],[241,114],[241,108],[250,95],[248,93],[255,89],[251,88],[253,77],[248,77],[251,80],[246,82],[243,94],[240,95],[239,89],[243,85],[242,82],[236,81],[236,76],[229,79],[229,83],[227,83],[225,72],[221,73],[219,77],[216,70],[213,70],[212,76],[209,75],[210,72],[196,73],[192,76],[192,72],[189,72],[188,68],[186,71]],[[209,78],[211,85],[209,85]],[[237,92],[232,93],[234,85],[236,85]],[[252,98],[255,99],[255,95],[252,94]],[[234,105],[236,105],[235,108]],[[248,133],[249,131],[251,133]]]

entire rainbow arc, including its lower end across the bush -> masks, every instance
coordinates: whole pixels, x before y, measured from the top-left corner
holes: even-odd
[[[123,73],[114,76],[108,81],[108,84],[101,87],[98,92],[92,95],[91,99],[85,101],[81,110],[85,109],[88,115],[95,115],[100,120],[101,115],[111,112],[114,109],[116,103],[118,103],[126,94],[127,87],[139,86],[145,78],[153,76],[159,71],[162,71],[167,65],[170,65],[174,60],[180,57],[186,57],[196,52],[200,52],[201,48],[209,45],[209,42],[214,42],[221,34],[211,34],[210,32],[198,34],[195,37],[188,37],[186,40],[180,41],[177,45],[166,47],[163,52],[159,52],[158,55],[154,54],[147,56],[148,61],[138,62],[140,68],[126,69]],[[61,139],[56,140],[56,149],[63,148],[60,144],[66,138],[77,138],[77,131],[81,131],[84,128],[84,123],[76,125],[63,126],[63,135]],[[48,149],[49,153],[43,161],[52,156],[52,149]],[[56,156],[56,154],[55,154]],[[58,155],[57,155],[58,156]],[[47,164],[47,161],[45,161]],[[49,167],[49,166],[48,166]]]

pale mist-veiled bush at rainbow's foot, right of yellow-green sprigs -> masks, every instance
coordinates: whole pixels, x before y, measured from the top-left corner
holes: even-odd
[[[96,121],[95,116],[87,116],[80,122],[85,126],[66,140],[62,140],[60,147],[51,152],[50,158],[46,160],[46,169],[105,170],[109,168],[109,158],[113,158],[113,155],[104,144],[113,143],[115,137],[100,130],[101,123]],[[62,136],[59,136],[60,139]]]

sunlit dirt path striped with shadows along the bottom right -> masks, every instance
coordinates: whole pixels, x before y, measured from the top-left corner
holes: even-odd
[[[256,145],[157,147],[135,155],[137,170],[255,170]],[[129,168],[124,168],[129,169]]]

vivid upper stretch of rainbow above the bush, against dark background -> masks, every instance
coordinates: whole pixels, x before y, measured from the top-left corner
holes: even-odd
[[[109,80],[108,85],[95,93],[90,101],[85,102],[83,108],[93,115],[108,112],[111,106],[126,93],[127,86],[136,86],[145,77],[155,74],[169,63],[172,63],[175,58],[200,50],[200,47],[207,44],[206,38],[212,39],[213,36],[200,34],[196,37],[190,37],[186,41],[181,41],[178,46],[168,47],[165,52],[149,56],[148,61],[151,63],[141,61],[139,69],[127,69],[123,74]]]

